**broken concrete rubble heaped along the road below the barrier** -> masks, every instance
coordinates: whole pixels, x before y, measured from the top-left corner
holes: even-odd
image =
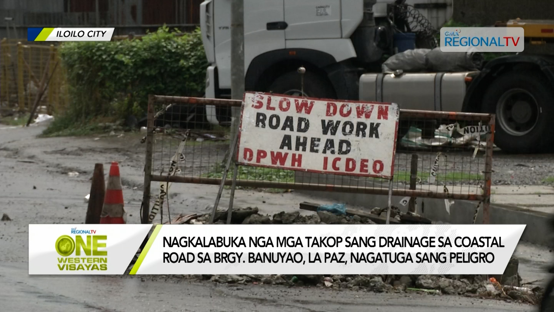
[[[372,215],[381,216],[386,210],[375,208]],[[391,217],[402,213],[391,211]],[[418,217],[417,215],[415,215]],[[226,211],[218,211],[214,224],[225,224]],[[327,211],[317,211],[310,215],[300,212],[280,212],[269,215],[259,214],[257,207],[237,208],[232,212],[233,224],[376,224],[359,215],[336,215]],[[207,224],[209,214],[177,215],[172,224]],[[170,222],[166,222],[169,224]],[[464,295],[477,298],[492,298],[518,303],[538,304],[542,289],[521,286],[517,273],[517,258],[512,257],[504,275],[184,275],[184,278],[209,280],[220,284],[265,284],[286,286],[317,286],[330,289],[350,289],[375,291],[378,293],[424,292],[428,294]],[[498,280],[498,281],[497,281]],[[500,283],[500,282],[502,283]]]

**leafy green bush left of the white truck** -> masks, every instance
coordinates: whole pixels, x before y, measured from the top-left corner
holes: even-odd
[[[206,55],[199,29],[176,36],[167,27],[140,39],[69,42],[59,48],[70,105],[50,131],[145,115],[148,94],[200,97]]]

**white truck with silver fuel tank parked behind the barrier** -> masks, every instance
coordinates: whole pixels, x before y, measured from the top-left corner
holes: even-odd
[[[207,98],[230,98],[231,1],[201,4],[203,45],[210,63]],[[406,4],[419,9],[412,21],[395,11]],[[505,152],[550,149],[550,56],[500,57],[473,72],[381,73],[383,57],[394,54],[395,32],[404,26],[413,31],[409,28],[414,20],[425,21],[419,24],[420,33],[439,29],[452,9],[453,0],[244,0],[245,89],[394,102],[404,109],[495,113],[495,143]],[[303,88],[297,73],[301,66],[306,68]],[[229,112],[207,110],[209,122],[229,123]]]

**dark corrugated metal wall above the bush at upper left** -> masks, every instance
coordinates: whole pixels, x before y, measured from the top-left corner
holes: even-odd
[[[116,27],[115,34],[143,34],[162,24],[183,30],[199,23],[202,0],[0,0],[0,38],[27,37],[27,27]],[[5,21],[5,17],[13,21]]]

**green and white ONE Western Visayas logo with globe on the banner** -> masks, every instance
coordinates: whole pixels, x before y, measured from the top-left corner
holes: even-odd
[[[106,235],[94,235],[96,230],[71,229],[71,234],[92,234],[61,235],[56,240],[56,251],[61,256],[58,258],[60,271],[92,271],[107,270]]]

